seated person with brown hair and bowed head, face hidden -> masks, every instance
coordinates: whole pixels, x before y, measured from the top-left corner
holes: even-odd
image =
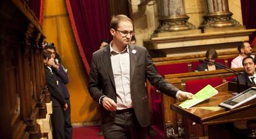
[[[205,57],[208,58],[211,62],[215,62],[218,58],[218,54],[215,49],[208,49]],[[218,66],[213,65],[212,63],[202,63],[197,66],[197,71],[213,71],[213,70],[220,70]]]

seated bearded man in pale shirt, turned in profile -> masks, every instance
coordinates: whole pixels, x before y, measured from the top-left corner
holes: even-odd
[[[252,47],[250,47],[249,42],[241,42],[237,46],[237,50],[239,51],[239,55],[234,58],[231,62],[231,68],[242,68],[242,60],[245,57],[251,56],[254,58],[254,55],[252,55]]]

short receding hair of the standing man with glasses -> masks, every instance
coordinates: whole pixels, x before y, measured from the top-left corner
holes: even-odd
[[[112,19],[111,19],[111,22],[110,22],[110,25],[109,25],[109,28],[110,29],[113,28],[114,30],[117,30],[119,22],[124,21],[124,20],[127,20],[130,23],[132,23],[132,20],[130,20],[130,18],[127,17],[126,15],[116,15],[116,16],[113,15]]]

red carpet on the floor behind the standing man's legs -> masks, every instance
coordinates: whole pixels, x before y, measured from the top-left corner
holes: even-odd
[[[73,128],[73,139],[104,139],[103,136],[98,137],[100,126],[85,126]],[[153,137],[147,139],[163,139],[163,135],[156,133]]]

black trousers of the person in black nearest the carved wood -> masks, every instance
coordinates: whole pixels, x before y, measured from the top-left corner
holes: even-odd
[[[61,106],[53,107],[53,114],[51,114],[51,122],[53,126],[53,138],[54,139],[65,139],[64,133],[64,113]]]

